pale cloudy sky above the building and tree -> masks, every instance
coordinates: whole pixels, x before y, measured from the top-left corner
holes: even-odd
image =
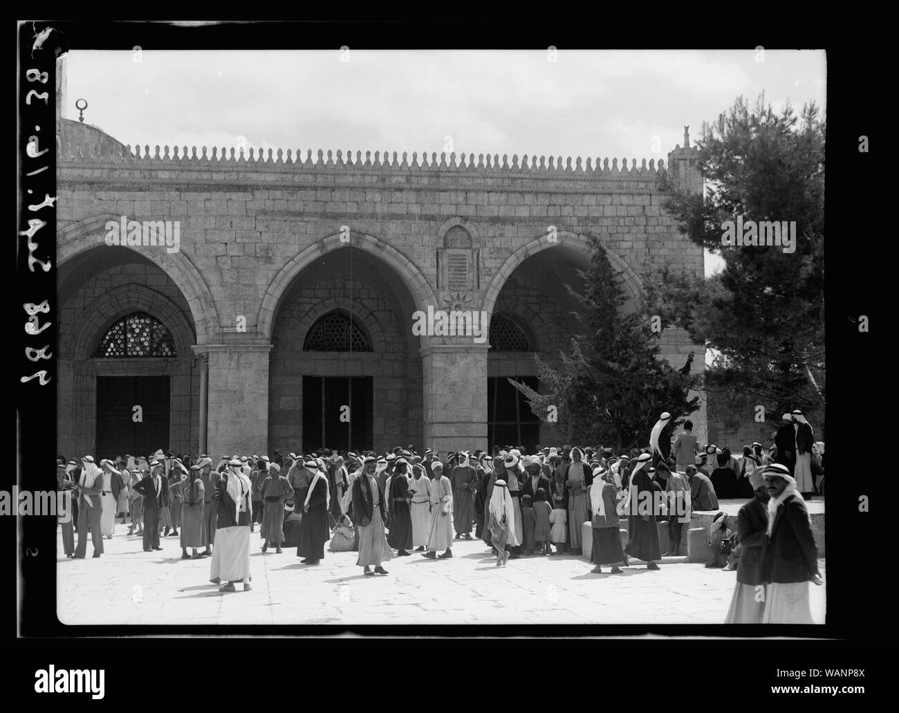
[[[349,61],[342,61],[342,59]],[[135,61],[139,59],[140,61]],[[758,61],[763,59],[763,61]],[[67,106],[125,144],[667,158],[739,95],[825,103],[823,51],[73,51]],[[707,272],[717,259],[707,256]]]

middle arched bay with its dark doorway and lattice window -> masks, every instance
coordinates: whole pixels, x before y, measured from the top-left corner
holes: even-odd
[[[421,446],[422,360],[407,285],[386,258],[352,246],[293,276],[271,322],[270,450]]]

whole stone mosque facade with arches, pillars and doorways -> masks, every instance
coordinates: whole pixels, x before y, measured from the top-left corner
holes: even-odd
[[[565,283],[582,289],[589,236],[620,272],[623,309],[646,267],[702,280],[702,249],[659,188],[668,173],[701,192],[697,155],[245,156],[129,147],[60,116],[58,452],[560,442],[506,379],[536,388],[534,355],[557,362],[575,333]],[[177,251],[108,245],[123,217],[177,224]],[[483,310],[489,338],[414,334],[429,307]],[[693,353],[704,368],[681,330],[660,343],[672,366]],[[704,442],[704,399],[690,418]]]

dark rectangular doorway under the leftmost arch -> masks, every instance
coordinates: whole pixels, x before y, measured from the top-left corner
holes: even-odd
[[[170,377],[97,377],[97,462],[169,447]],[[142,421],[135,423],[134,407]]]

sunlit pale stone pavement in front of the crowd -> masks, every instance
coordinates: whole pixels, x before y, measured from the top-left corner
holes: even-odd
[[[592,575],[583,558],[521,557],[495,566],[480,540],[458,540],[455,557],[419,553],[365,577],[355,552],[328,552],[304,566],[296,548],[263,555],[251,535],[253,590],[219,593],[209,558],[182,560],[177,538],[145,553],[141,539],[116,525],[93,559],[62,555],[58,536],[58,617],[65,624],[719,624],[735,572],[699,564],[631,566]],[[824,572],[824,560],[820,560]],[[824,621],[824,587],[810,584],[815,623]]]

